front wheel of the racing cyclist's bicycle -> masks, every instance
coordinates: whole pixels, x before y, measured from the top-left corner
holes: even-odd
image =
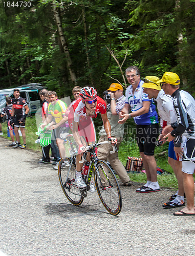
[[[122,208],[120,187],[113,170],[104,161],[97,160],[97,167],[94,167],[94,180],[105,209],[112,215],[118,215]]]

